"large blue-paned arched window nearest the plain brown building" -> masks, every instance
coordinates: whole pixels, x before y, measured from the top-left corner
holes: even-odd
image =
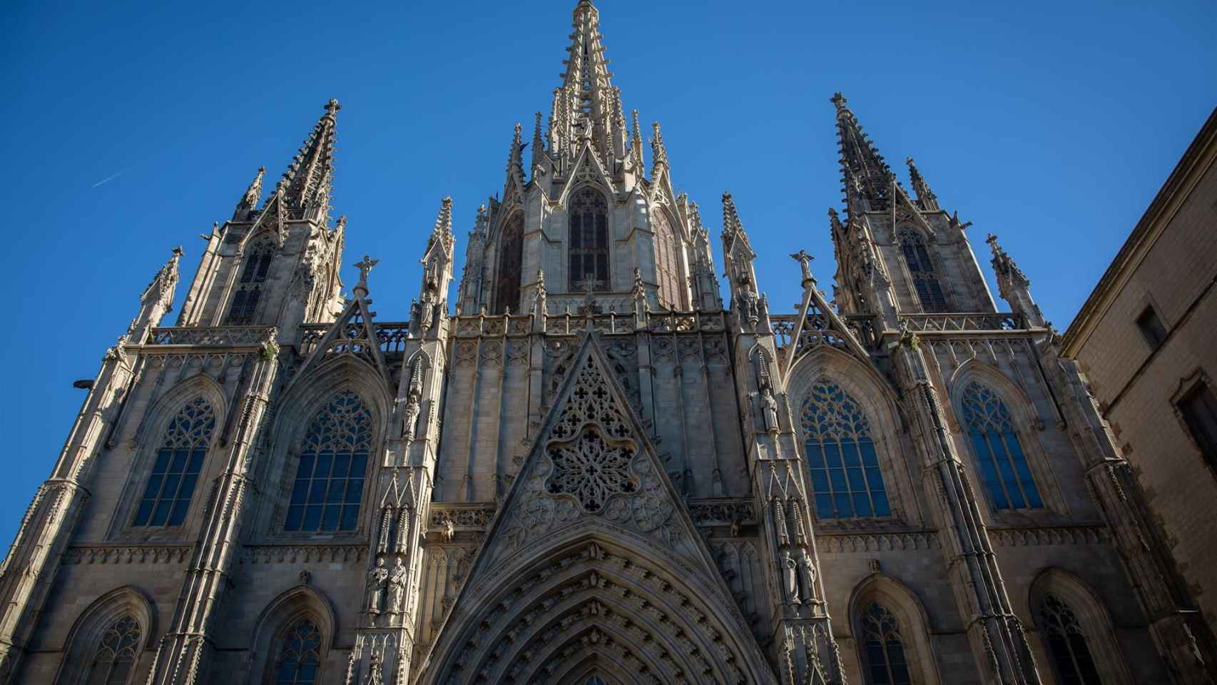
[[[1022,453],[1010,411],[993,388],[971,381],[960,403],[964,423],[980,465],[981,479],[997,509],[1044,506]]]

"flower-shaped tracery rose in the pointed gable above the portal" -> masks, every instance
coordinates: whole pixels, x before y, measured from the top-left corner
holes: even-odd
[[[573,495],[588,513],[600,513],[608,498],[638,490],[629,475],[634,450],[610,445],[600,433],[587,427],[578,440],[549,448],[554,473],[548,490],[555,495]]]

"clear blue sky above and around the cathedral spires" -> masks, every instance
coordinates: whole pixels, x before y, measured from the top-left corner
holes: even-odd
[[[0,545],[79,409],[72,381],[96,374],[175,245],[181,301],[196,236],[259,165],[274,183],[330,97],[346,263],[378,257],[376,309],[404,319],[439,198],[453,197],[464,256],[512,125],[527,136],[533,112],[548,116],[573,5],[6,2]],[[986,270],[994,232],[1064,329],[1217,102],[1212,1],[916,5],[599,7],[627,110],[662,122],[719,266],[718,198],[735,195],[775,308],[798,298],[791,252],[817,254],[831,282],[828,99],[841,90],[902,178],[912,155],[975,221]]]

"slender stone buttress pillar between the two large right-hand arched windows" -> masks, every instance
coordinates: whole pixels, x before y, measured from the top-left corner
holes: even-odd
[[[964,613],[981,681],[1038,684],[1026,633],[1006,596],[976,495],[947,433],[942,403],[918,344],[916,336],[903,332],[892,359],[914,443],[924,455],[926,498],[932,502],[947,574]]]

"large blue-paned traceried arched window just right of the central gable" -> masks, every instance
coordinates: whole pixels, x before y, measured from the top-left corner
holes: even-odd
[[[820,378],[800,414],[820,518],[891,516],[870,421],[841,386]]]

